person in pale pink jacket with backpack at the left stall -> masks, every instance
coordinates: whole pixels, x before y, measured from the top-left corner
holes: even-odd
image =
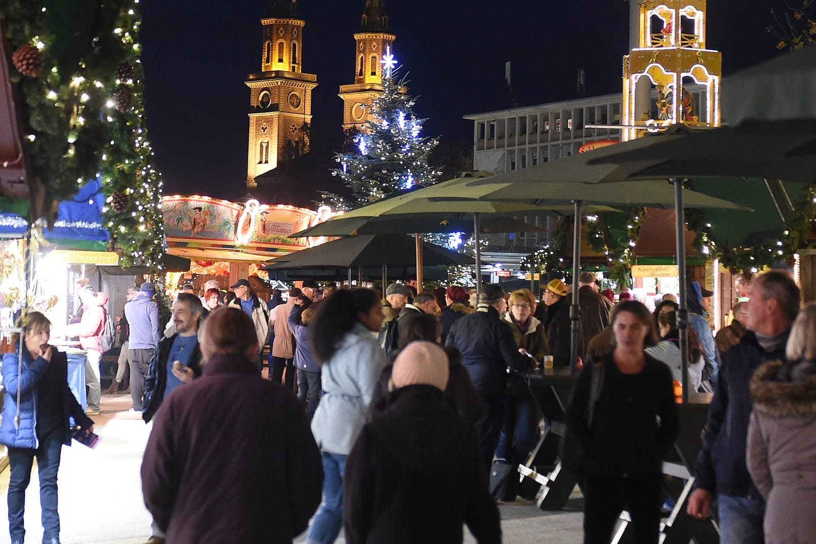
[[[82,301],[82,318],[78,323],[68,325],[66,334],[69,337],[78,336],[79,345],[85,350],[85,383],[88,387],[88,406],[86,414],[100,413],[100,360],[107,349],[113,347],[110,336],[105,335],[105,323],[113,325],[113,335],[116,335],[116,325],[105,312],[104,305],[108,303],[108,295],[97,293],[91,285],[82,287],[79,292]],[[107,346],[103,346],[103,338]]]

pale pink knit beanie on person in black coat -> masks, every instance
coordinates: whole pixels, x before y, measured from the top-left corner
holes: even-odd
[[[397,355],[391,371],[391,389],[409,385],[432,385],[445,391],[448,385],[448,356],[438,344],[417,340]]]

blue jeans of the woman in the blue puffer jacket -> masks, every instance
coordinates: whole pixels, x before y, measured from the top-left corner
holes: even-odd
[[[61,431],[61,429],[60,429]],[[8,532],[11,542],[23,542],[25,528],[25,489],[31,481],[34,457],[40,476],[40,508],[42,510],[42,542],[59,542],[60,514],[57,512],[56,474],[60,470],[62,453],[61,432],[49,433],[40,439],[38,449],[8,448],[11,474],[8,482]]]

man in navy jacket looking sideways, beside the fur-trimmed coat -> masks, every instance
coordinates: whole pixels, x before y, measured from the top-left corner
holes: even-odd
[[[716,495],[721,544],[765,542],[765,501],[745,463],[752,409],[748,383],[765,361],[784,360],[799,306],[799,288],[787,272],[772,270],[758,276],[748,302],[748,332],[722,360],[688,507],[689,515],[705,519]]]

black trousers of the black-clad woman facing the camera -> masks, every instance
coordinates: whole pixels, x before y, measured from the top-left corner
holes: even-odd
[[[608,544],[620,512],[632,518],[632,542],[657,544],[660,535],[661,475],[583,478],[583,542]]]

